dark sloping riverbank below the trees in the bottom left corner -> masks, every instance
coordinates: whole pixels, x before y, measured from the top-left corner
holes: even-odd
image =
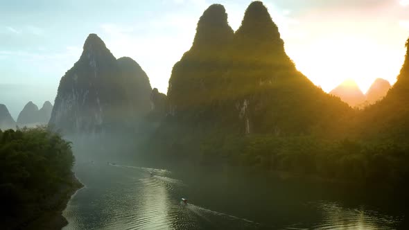
[[[24,213],[20,218],[9,220],[2,229],[10,230],[60,230],[68,224],[62,216],[62,211],[67,207],[71,196],[76,193],[83,185],[78,181],[75,175],[71,175],[69,182],[60,186],[58,193],[46,199],[46,203],[41,207],[35,207],[29,213]]]

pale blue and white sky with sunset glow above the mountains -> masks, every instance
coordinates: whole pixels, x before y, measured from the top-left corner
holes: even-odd
[[[116,58],[128,56],[166,94],[202,12],[225,6],[234,30],[249,0],[0,0],[0,104],[14,118],[28,101],[54,102],[60,78],[89,33]],[[409,0],[266,0],[286,52],[315,85],[331,91],[354,79],[396,81],[409,37]]]

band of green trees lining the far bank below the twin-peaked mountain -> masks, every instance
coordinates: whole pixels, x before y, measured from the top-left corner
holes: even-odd
[[[397,143],[323,141],[312,136],[227,136],[202,143],[202,161],[365,184],[409,179],[409,149]],[[222,154],[222,155],[220,155]]]

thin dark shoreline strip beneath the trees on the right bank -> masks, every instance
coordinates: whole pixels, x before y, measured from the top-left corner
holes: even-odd
[[[150,156],[151,157],[151,156]],[[140,163],[141,161],[138,160]],[[175,170],[175,168],[184,168],[186,171],[195,170],[195,168],[207,168],[213,172],[218,172],[220,175],[229,173],[231,171],[243,172],[243,175],[252,175],[256,178],[270,178],[279,179],[283,182],[293,181],[311,184],[311,186],[319,185],[323,188],[337,188],[342,191],[354,191],[354,192],[369,192],[369,191],[383,191],[385,194],[399,194],[399,197],[403,197],[406,191],[409,189],[399,184],[396,181],[385,181],[379,179],[374,181],[365,178],[343,178],[343,177],[331,177],[331,175],[325,176],[318,173],[302,173],[296,170],[277,170],[272,168],[266,168],[260,165],[249,166],[245,163],[238,161],[237,159],[223,159],[221,157],[213,157],[211,159],[195,159],[193,157],[162,157],[162,158],[150,158],[150,160],[143,161],[146,165],[155,168],[166,168],[169,170]],[[162,163],[154,163],[162,162]],[[173,166],[168,167],[168,166]],[[402,194],[401,194],[402,193]],[[381,193],[380,193],[381,194]],[[408,197],[404,195],[404,197]],[[409,198],[408,198],[409,199]]]

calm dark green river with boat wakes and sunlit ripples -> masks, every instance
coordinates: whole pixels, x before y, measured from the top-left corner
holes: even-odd
[[[85,187],[63,212],[63,229],[403,229],[405,222],[388,198],[378,208],[365,195],[320,184],[131,162],[78,160]]]

